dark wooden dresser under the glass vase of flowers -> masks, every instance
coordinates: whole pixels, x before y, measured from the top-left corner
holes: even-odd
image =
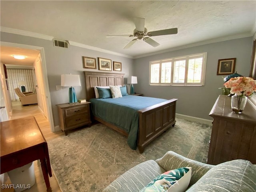
[[[256,106],[251,100],[248,99],[242,114],[236,114],[231,109],[231,97],[218,96],[209,114],[213,122],[208,164],[234,159],[256,164]]]

